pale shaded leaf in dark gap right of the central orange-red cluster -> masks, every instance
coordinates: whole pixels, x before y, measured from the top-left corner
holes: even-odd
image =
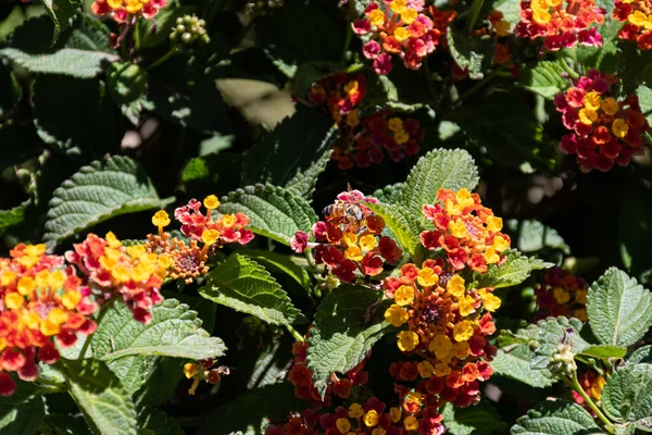
[[[517,221],[512,219],[505,223],[505,231],[512,237],[512,244],[521,252],[536,252],[544,248],[559,249],[565,254],[570,253],[556,229],[543,225],[539,221]]]

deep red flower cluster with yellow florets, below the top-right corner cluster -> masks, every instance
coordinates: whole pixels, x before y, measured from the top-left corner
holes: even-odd
[[[609,171],[614,163],[625,166],[631,156],[643,152],[643,134],[650,125],[636,95],[615,98],[612,88],[617,82],[615,76],[591,70],[555,97],[564,126],[572,130],[562,137],[560,147],[577,154],[582,172]]]

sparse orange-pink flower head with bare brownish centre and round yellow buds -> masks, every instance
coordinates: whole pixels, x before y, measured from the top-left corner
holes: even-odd
[[[164,210],[152,217],[159,233],[147,237],[146,249],[159,256],[167,276],[183,278],[187,284],[209,272],[206,261],[216,248],[231,243],[247,245],[253,239],[253,233],[247,227],[249,216],[244,213],[223,214],[215,220],[213,211],[220,207],[220,200],[214,195],[203,200],[205,211],[201,207],[202,202],[191,199],[174,212],[175,219],[181,224],[181,234],[189,241],[172,237],[163,231],[171,223]]]

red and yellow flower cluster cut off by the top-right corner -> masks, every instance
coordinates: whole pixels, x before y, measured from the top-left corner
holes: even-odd
[[[613,17],[626,23],[620,39],[636,41],[641,50],[652,49],[652,0],[616,0]]]

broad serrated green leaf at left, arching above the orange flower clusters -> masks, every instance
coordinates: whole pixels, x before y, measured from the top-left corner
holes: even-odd
[[[152,210],[162,200],[145,170],[127,157],[113,157],[84,166],[54,190],[43,240],[57,244],[113,216]]]

